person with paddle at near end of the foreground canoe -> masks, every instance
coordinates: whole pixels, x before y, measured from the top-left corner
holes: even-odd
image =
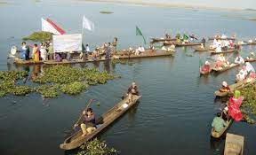
[[[86,136],[87,134],[91,134],[96,129],[96,120],[95,115],[92,112],[92,108],[88,108],[86,111],[83,111],[82,121],[83,123],[80,124],[80,128],[82,129],[83,135]],[[75,124],[75,128],[78,124]]]

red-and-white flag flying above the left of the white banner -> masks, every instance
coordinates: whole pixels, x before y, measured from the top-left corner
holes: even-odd
[[[65,31],[57,26],[51,19],[41,19],[42,20],[42,31],[51,32],[54,35],[63,35]]]

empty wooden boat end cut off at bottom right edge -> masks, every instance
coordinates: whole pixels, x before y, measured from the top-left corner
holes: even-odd
[[[243,155],[244,136],[227,133],[224,155]]]

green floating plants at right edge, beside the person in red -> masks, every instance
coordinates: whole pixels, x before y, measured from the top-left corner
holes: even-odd
[[[242,104],[244,120],[248,123],[255,123],[252,115],[256,115],[256,86],[253,85],[252,87],[242,89],[241,94],[244,96],[244,102]]]

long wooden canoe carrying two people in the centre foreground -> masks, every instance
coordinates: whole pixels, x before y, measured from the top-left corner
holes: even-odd
[[[91,134],[82,136],[82,130],[80,129],[77,131],[73,136],[69,136],[64,143],[60,144],[60,149],[63,150],[72,150],[76,149],[77,147],[81,146],[88,140],[92,139],[94,136],[98,135],[100,131],[104,128],[107,128],[114,120],[118,119],[121,115],[124,114],[128,109],[135,105],[135,103],[140,99],[141,96],[133,96],[132,103],[128,104],[127,107],[124,107],[124,104],[127,103],[128,97],[125,97],[124,100],[120,101],[117,105],[113,108],[108,110],[108,112],[101,115],[101,124],[99,127],[94,130]]]

